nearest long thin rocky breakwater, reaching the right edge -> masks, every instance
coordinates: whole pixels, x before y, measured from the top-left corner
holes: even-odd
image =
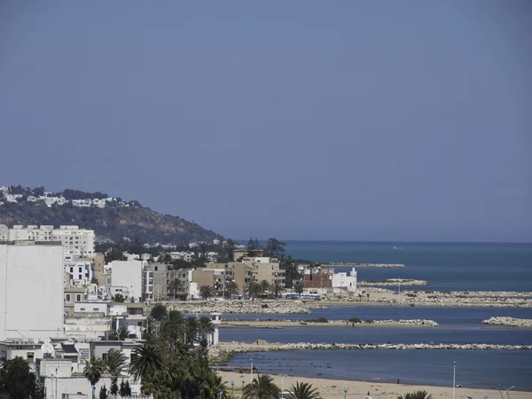
[[[246,342],[222,342],[209,349],[209,356],[213,361],[223,361],[231,358],[236,353],[247,352],[277,352],[292,350],[532,350],[532,345],[495,345],[495,344],[344,344],[344,343],[268,343],[264,340],[257,340],[254,343]]]

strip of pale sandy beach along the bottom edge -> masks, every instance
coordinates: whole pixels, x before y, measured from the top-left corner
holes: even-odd
[[[235,396],[240,397],[242,392],[242,377],[245,378],[246,384],[249,383],[249,374],[240,374],[239,372],[218,372],[222,376],[223,380],[227,383],[229,391],[231,392],[231,379],[235,381],[234,393]],[[320,395],[324,399],[343,399],[343,388],[348,388],[348,398],[362,399],[364,396],[370,393],[372,398],[379,399],[397,399],[398,395],[403,395],[409,392],[417,390],[426,390],[434,399],[437,398],[452,398],[452,382],[450,381],[449,387],[434,387],[434,386],[419,386],[409,384],[383,384],[377,382],[364,382],[364,381],[345,381],[340,379],[312,379],[304,377],[286,377],[284,383],[279,375],[272,375],[275,383],[278,387],[284,386],[285,391],[298,382],[308,382],[316,387]],[[473,399],[483,398],[489,395],[491,399],[497,399],[499,397],[498,391],[494,389],[471,389],[459,387],[456,388],[455,397],[459,399],[467,399],[472,397]],[[511,391],[510,399],[530,399],[532,393]]]

